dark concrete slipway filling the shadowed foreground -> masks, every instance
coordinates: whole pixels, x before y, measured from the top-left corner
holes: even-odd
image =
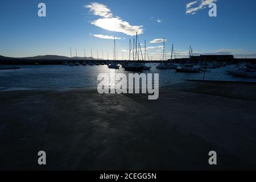
[[[96,88],[0,92],[0,169],[256,169],[255,108],[249,83],[185,81],[156,101]]]

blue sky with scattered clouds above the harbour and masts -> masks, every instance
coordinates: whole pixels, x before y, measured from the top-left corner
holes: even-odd
[[[46,17],[38,16],[40,2],[46,4]],[[193,5],[187,9],[191,2]],[[216,3],[217,17],[208,15],[209,2]],[[108,51],[111,58],[115,37],[118,58],[123,52],[127,59],[129,39],[138,31],[153,59],[162,57],[163,45],[153,40],[163,38],[167,39],[167,56],[174,44],[177,57],[188,56],[189,46],[195,55],[232,53],[256,57],[255,7],[254,0],[1,1],[0,55],[69,56],[71,46],[73,54],[77,49],[79,56],[84,56],[84,49],[90,56],[92,48],[94,57],[98,50],[100,58],[102,51],[104,58]]]

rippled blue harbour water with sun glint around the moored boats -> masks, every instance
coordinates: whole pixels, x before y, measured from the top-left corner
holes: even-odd
[[[157,69],[158,64],[148,64],[152,68],[143,73],[159,73],[159,86],[173,84],[184,80],[203,80],[204,73],[177,73],[174,69]],[[54,89],[87,88],[97,86],[100,73],[109,73],[107,65],[76,66],[67,65],[17,65],[21,69],[0,71],[0,90],[11,89]],[[256,78],[234,77],[225,71],[236,65],[217,69],[208,69],[205,80],[256,82]],[[127,72],[120,68],[116,73]]]

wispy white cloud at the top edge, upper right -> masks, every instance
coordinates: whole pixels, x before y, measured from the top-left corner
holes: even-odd
[[[190,3],[187,3],[186,5],[186,13],[187,14],[196,14],[197,11],[201,9],[205,9],[210,3],[217,2],[218,0],[197,0],[197,1],[192,1]],[[193,5],[196,5],[196,7],[192,7]]]

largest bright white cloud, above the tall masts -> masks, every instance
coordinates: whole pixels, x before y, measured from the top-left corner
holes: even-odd
[[[113,16],[111,10],[103,4],[93,2],[90,3],[90,5],[85,5],[85,7],[90,9],[90,12],[94,15],[102,17],[91,22],[97,27],[109,31],[121,32],[130,36],[136,35],[136,32],[138,32],[138,34],[143,34],[143,26],[132,26],[129,22],[122,20],[119,16]]]

